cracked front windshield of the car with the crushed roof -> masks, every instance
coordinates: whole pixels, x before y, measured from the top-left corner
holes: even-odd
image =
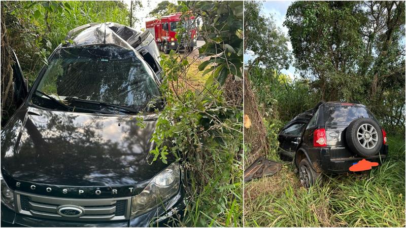
[[[73,47],[56,51],[37,90],[59,100],[74,97],[143,110],[160,97],[153,77],[133,50]]]

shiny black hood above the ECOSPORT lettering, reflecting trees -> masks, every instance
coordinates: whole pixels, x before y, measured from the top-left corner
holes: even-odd
[[[3,176],[45,185],[143,188],[167,166],[152,163],[149,153],[157,115],[143,119],[139,124],[136,116],[22,106],[2,129]]]

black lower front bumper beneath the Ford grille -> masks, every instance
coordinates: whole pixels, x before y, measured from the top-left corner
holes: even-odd
[[[8,207],[2,204],[1,206],[1,226],[46,226],[46,227],[146,227],[146,226],[173,226],[174,217],[179,219],[183,210],[185,209],[185,190],[183,187],[180,191],[170,200],[164,203],[166,208],[170,208],[165,211],[163,206],[157,207],[149,212],[139,215],[130,220],[121,221],[104,221],[104,222],[77,222],[77,221],[63,221],[37,218],[28,215],[18,214]]]

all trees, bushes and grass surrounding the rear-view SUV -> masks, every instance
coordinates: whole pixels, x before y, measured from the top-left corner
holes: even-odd
[[[245,225],[404,226],[404,3],[294,2],[284,21],[288,34],[261,9],[245,3],[245,48],[254,53],[245,65],[244,114],[252,122],[245,165],[265,156],[283,168],[245,183]],[[290,65],[295,78],[281,73]],[[388,132],[390,158],[303,188],[294,164],[279,158],[277,134],[320,100],[365,104]]]

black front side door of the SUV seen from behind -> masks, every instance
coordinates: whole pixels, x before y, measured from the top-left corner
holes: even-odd
[[[295,121],[286,125],[278,135],[279,146],[286,151],[296,151],[307,122]]]

